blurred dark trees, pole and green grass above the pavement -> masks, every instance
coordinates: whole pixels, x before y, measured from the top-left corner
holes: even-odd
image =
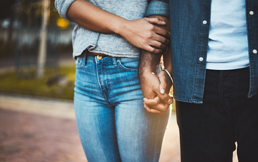
[[[0,2],[0,92],[72,99],[74,24],[54,0]]]

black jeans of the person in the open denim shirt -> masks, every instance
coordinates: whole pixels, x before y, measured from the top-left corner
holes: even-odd
[[[258,162],[258,94],[249,67],[206,70],[202,104],[176,101],[182,162]]]

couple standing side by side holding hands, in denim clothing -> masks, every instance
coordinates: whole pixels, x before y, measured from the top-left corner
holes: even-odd
[[[236,141],[239,162],[256,161],[258,0],[55,5],[76,23],[74,108],[89,162],[158,162],[172,84],[182,162],[232,162]]]

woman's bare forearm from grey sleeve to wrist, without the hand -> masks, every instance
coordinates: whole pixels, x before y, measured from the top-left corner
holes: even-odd
[[[105,33],[118,33],[118,29],[128,21],[86,0],[72,2],[67,17],[85,29]]]

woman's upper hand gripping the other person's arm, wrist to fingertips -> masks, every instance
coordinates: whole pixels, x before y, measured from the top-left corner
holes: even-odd
[[[159,54],[167,49],[170,33],[153,24],[164,26],[165,22],[159,18],[142,18],[127,21],[125,28],[119,33],[134,46]]]

